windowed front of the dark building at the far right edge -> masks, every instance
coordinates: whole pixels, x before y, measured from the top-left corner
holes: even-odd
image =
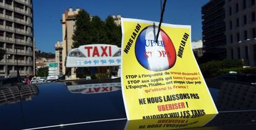
[[[226,0],[226,49],[228,59],[256,65],[256,1]]]

